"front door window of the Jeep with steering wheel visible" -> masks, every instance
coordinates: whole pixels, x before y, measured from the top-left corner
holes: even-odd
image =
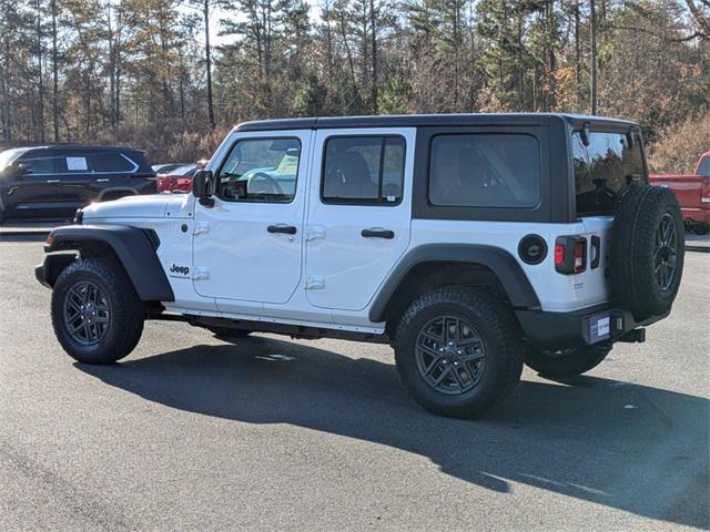
[[[298,139],[237,141],[217,175],[217,195],[229,202],[290,203],[300,162]]]

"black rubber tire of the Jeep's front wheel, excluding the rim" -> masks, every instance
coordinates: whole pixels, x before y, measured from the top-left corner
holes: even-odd
[[[69,331],[64,301],[72,287],[92,283],[105,295],[110,308],[104,336],[94,345],[82,345]],[[52,325],[64,350],[84,364],[112,364],[128,356],[143,332],[144,308],[133,284],[120,264],[108,258],[71,263],[58,277],[52,291]]]

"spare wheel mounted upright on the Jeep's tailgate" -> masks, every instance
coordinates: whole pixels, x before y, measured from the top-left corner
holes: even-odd
[[[659,186],[628,186],[619,195],[611,228],[615,303],[638,321],[667,314],[680,287],[684,245],[673,193]]]

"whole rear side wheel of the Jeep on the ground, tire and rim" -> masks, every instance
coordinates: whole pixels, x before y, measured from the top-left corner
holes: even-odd
[[[405,388],[427,410],[456,418],[483,413],[510,393],[520,379],[521,350],[513,311],[463,287],[422,296],[395,335]]]

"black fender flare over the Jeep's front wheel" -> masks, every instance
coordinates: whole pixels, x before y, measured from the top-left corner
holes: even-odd
[[[68,225],[58,227],[48,237],[45,253],[79,250],[91,243],[102,243],[113,249],[143,301],[173,301],[175,296],[154,243],[138,227],[126,225]]]

